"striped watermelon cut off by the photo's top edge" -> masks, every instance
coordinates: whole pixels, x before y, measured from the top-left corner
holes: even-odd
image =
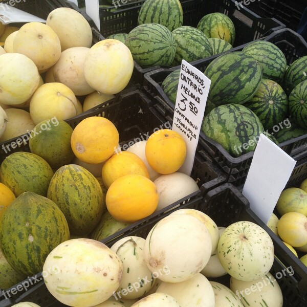
[[[182,26],[183,11],[179,0],[146,0],[139,12],[138,25],[160,24],[169,31]]]

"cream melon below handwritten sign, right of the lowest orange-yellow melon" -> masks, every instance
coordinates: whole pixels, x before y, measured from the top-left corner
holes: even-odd
[[[178,171],[161,175],[153,183],[155,183],[159,195],[159,203],[156,211],[164,209],[199,190],[193,178]]]

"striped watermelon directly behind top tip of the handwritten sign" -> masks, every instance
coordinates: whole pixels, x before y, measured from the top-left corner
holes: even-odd
[[[173,66],[179,65],[183,59],[191,62],[213,55],[208,37],[196,28],[179,27],[172,31],[172,35],[177,45]]]

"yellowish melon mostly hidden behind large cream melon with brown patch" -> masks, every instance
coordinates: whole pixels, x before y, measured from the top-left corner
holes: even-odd
[[[165,176],[165,175],[162,175]],[[166,175],[168,176],[168,175]],[[159,188],[158,188],[159,191]],[[218,239],[220,239],[220,232],[218,231],[218,227],[212,218],[207,215],[206,213],[195,210],[195,209],[179,209],[177,211],[172,212],[170,215],[173,214],[189,214],[196,218],[198,218],[209,230],[210,238],[211,238],[211,245],[212,245],[212,254],[217,249]]]

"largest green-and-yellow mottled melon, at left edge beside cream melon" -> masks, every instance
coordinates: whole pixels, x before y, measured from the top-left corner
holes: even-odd
[[[3,213],[0,248],[20,274],[31,276],[40,272],[48,254],[68,239],[64,214],[44,196],[25,192]]]

